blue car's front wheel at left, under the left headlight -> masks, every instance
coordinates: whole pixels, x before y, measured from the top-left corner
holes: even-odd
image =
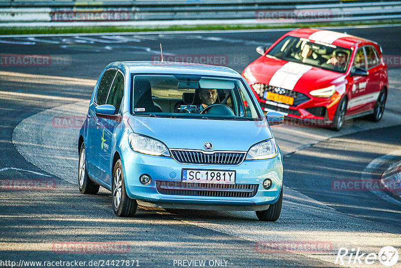
[[[114,213],[119,217],[131,217],[135,214],[136,200],[128,197],[125,191],[124,174],[121,160],[117,160],[113,168],[111,197]]]

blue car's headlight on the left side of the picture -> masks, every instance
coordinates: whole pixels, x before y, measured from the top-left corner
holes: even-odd
[[[167,147],[163,143],[149,137],[131,133],[128,136],[128,141],[135,152],[152,156],[170,156]]]

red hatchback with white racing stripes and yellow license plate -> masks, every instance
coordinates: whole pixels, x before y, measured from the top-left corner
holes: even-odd
[[[339,130],[345,119],[379,121],[388,80],[381,47],[366,39],[317,30],[291,31],[242,75],[265,111]],[[310,123],[311,125],[311,123]]]

